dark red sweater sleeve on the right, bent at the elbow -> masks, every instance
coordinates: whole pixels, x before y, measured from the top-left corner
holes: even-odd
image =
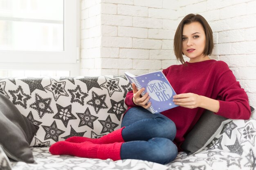
[[[247,120],[251,116],[248,96],[240,87],[236,77],[231,70],[224,72],[216,83],[218,93],[217,100],[220,102],[220,109],[216,113],[230,119]]]

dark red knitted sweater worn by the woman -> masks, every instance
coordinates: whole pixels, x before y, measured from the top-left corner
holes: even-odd
[[[216,114],[231,119],[249,119],[251,111],[248,96],[225,62],[206,60],[186,64],[171,65],[163,70],[177,94],[194,93],[219,100],[220,109]],[[128,92],[125,99],[128,109],[137,107],[132,97],[133,92]],[[179,151],[182,150],[180,146],[184,135],[193,128],[204,110],[200,107],[189,109],[179,106],[161,112],[176,124],[174,143]]]

